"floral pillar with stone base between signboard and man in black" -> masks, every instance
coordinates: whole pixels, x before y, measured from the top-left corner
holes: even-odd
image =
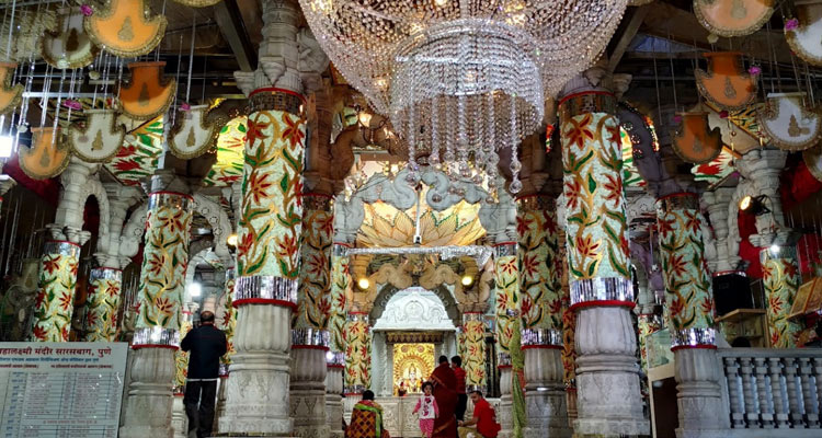
[[[180,346],[193,203],[184,191],[170,173],[151,178],[132,380],[119,430],[125,438],[171,435],[174,354]]]

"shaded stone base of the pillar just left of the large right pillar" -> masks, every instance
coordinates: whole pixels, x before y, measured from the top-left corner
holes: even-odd
[[[525,349],[525,407],[528,426],[525,438],[570,438],[562,350],[530,346]]]

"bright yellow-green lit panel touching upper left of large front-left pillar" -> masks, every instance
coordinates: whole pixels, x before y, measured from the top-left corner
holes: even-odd
[[[248,117],[229,120],[217,135],[217,162],[203,180],[205,186],[229,186],[242,180],[242,152],[246,149]]]

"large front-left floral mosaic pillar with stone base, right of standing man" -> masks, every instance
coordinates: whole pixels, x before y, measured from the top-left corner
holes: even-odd
[[[288,350],[299,279],[304,104],[301,95],[283,89],[249,96],[233,297],[237,353],[221,434],[292,433]]]

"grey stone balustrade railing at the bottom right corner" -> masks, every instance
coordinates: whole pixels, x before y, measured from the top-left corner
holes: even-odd
[[[730,435],[822,436],[822,349],[723,348],[717,356]]]

